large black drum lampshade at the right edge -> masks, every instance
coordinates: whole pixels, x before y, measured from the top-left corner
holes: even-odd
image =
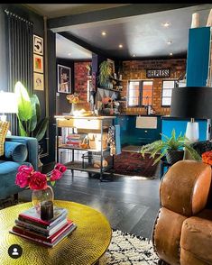
[[[177,87],[172,91],[171,116],[212,118],[212,87]]]

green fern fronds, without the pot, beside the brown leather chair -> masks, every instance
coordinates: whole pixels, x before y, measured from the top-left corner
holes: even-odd
[[[143,145],[143,147],[141,148],[143,157],[145,153],[151,153],[151,158],[154,159],[155,155],[159,154],[156,160],[154,160],[153,165],[160,161],[161,158],[165,156],[169,151],[180,151],[183,149],[187,150],[191,158],[193,158],[194,160],[201,160],[198,152],[191,147],[189,140],[185,135],[181,135],[180,133],[180,135],[177,137],[175,130],[173,129],[171,132],[171,137],[168,137],[167,135],[162,133],[161,136],[164,137],[164,140],[158,140],[152,143],[148,143],[146,145]]]

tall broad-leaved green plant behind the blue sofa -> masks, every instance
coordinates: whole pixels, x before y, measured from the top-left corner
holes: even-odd
[[[18,124],[21,136],[35,137],[41,141],[46,133],[49,117],[41,118],[41,105],[38,96],[29,96],[21,82],[17,82],[14,93],[18,104]]]

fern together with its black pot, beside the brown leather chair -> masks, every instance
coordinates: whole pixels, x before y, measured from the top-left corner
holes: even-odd
[[[144,157],[145,153],[151,153],[151,158],[155,158],[156,154],[159,156],[154,160],[153,165],[166,156],[166,160],[169,164],[173,165],[179,160],[183,159],[184,150],[189,152],[189,155],[194,160],[201,160],[198,152],[195,151],[189,144],[189,140],[186,136],[181,136],[181,133],[176,137],[175,130],[171,132],[171,137],[161,134],[164,140],[158,140],[152,143],[143,145],[141,153]]]

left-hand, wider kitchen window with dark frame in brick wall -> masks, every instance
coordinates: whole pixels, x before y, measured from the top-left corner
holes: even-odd
[[[128,83],[128,106],[152,105],[152,81],[132,80]]]

